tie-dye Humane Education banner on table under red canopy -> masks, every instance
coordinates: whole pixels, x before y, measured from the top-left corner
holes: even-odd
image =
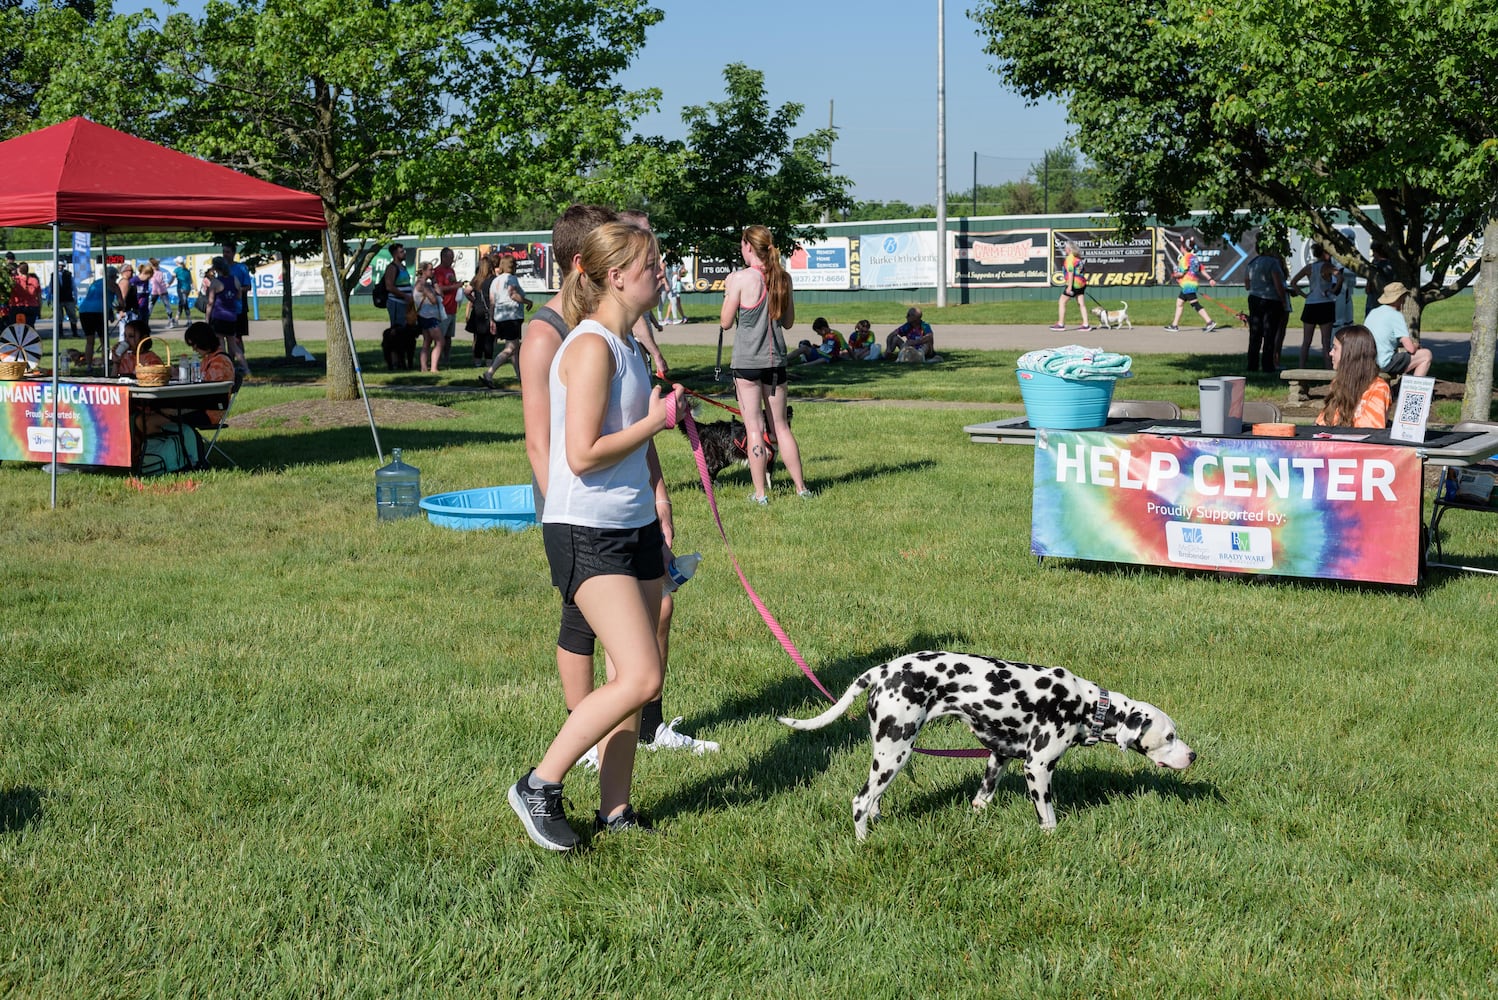
[[[123,385],[63,382],[57,461],[130,466],[130,391]],[[0,458],[52,461],[52,383],[0,382]]]

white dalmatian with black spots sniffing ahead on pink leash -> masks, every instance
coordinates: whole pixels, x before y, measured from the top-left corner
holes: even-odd
[[[1197,759],[1176,737],[1170,716],[1153,705],[1109,692],[1059,666],[971,653],[926,650],[897,657],[861,674],[821,716],[782,716],[780,722],[791,729],[821,729],[848,711],[864,689],[873,762],[869,780],[852,796],[858,840],[867,835],[869,822],[879,819],[879,796],[911,759],[915,735],[929,719],[941,716],[957,716],[968,723],[992,754],[972,807],[987,807],[1004,763],[1014,757],[1025,762],[1025,783],[1046,831],[1056,828],[1050,778],[1073,744],[1107,740],[1176,771]]]

